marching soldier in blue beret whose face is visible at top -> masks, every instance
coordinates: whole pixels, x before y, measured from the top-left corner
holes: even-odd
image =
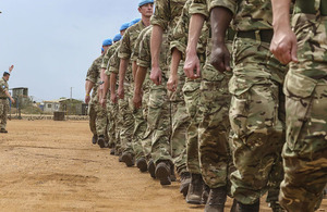
[[[130,59],[141,30],[150,24],[149,18],[153,15],[153,5],[154,0],[140,1],[138,12],[142,18],[134,20],[131,23],[131,26],[122,38],[118,53],[120,58],[118,95],[119,98],[122,99],[122,101],[120,101],[122,103],[120,104],[120,112],[124,112],[125,124],[124,139],[122,140],[122,145],[124,146],[122,160],[126,166],[132,166],[134,164],[134,157],[136,155],[136,165],[141,167],[141,170],[146,167],[146,160],[144,159],[141,144],[141,138],[143,137],[146,125],[143,119],[143,111],[134,110],[133,104],[131,105],[134,91],[133,78],[135,77],[136,68],[132,67],[133,61]],[[128,66],[130,66],[132,72],[128,72]]]

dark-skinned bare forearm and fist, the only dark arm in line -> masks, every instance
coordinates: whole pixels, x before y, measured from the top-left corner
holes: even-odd
[[[231,71],[230,52],[225,43],[226,32],[232,20],[232,12],[223,7],[216,7],[210,13],[211,23],[211,58],[210,62],[220,72]]]

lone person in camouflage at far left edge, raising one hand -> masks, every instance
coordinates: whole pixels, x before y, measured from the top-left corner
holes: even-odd
[[[9,111],[9,100],[11,100],[12,103],[15,102],[15,100],[10,96],[9,93],[9,85],[8,80],[10,78],[10,74],[13,70],[13,65],[9,67],[9,72],[3,72],[3,76],[0,79],[0,133],[7,134],[8,130],[5,129],[7,126],[7,119],[8,119],[8,111]]]

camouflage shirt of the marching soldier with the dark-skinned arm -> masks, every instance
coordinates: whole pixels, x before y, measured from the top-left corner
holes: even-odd
[[[202,2],[206,0],[194,0]],[[233,13],[234,30],[272,29],[272,8],[270,0],[207,0],[208,11],[223,7]]]

